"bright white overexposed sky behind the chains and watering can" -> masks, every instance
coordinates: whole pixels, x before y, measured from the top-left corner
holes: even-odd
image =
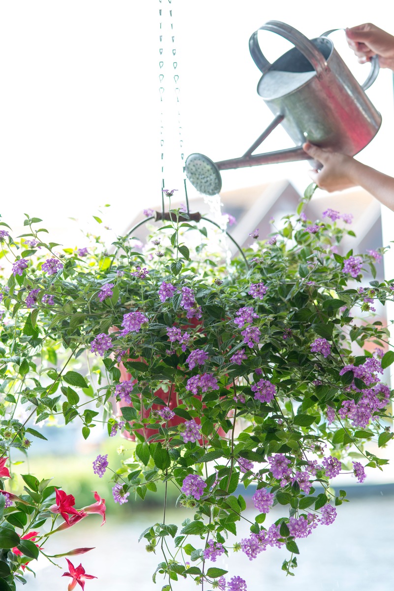
[[[67,232],[66,238],[75,242],[81,220],[110,203],[106,223],[114,232],[122,232],[135,213],[160,199],[159,73],[165,72],[165,161],[175,163],[173,173],[167,165],[165,180],[175,188],[181,165],[178,122],[173,116],[174,73],[179,75],[185,155],[202,152],[213,160],[237,157],[271,121],[271,112],[256,92],[260,75],[249,55],[249,36],[270,19],[287,22],[308,37],[370,20],[393,28],[382,4],[375,4],[372,11],[370,2],[343,0],[331,0],[329,8],[294,0],[2,2],[2,219],[16,228],[27,212],[42,217],[47,227]],[[160,7],[165,16],[163,58]],[[267,57],[275,59],[287,46],[278,43],[277,35],[266,35]],[[369,66],[357,64],[343,37],[336,33],[334,43],[362,81]],[[173,48],[175,57],[170,55]],[[160,59],[165,61],[161,70]],[[177,62],[176,70],[172,60]],[[390,174],[391,73],[382,71],[368,94],[382,112],[383,127],[359,158]],[[262,149],[291,145],[277,129]],[[307,169],[306,163],[279,164],[226,171],[222,177],[224,189],[287,177],[302,190],[309,183]],[[68,217],[80,222],[71,223]]]

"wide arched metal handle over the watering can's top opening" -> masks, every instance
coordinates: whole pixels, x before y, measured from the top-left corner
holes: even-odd
[[[272,33],[277,33],[284,37],[290,43],[293,43],[294,47],[296,47],[301,53],[306,57],[308,61],[312,64],[314,70],[316,70],[316,74],[318,77],[322,76],[324,72],[327,70],[327,62],[324,59],[323,54],[320,53],[319,50],[311,43],[311,41],[300,31],[297,31],[290,25],[285,24],[285,22],[280,21],[268,21],[265,25],[262,25],[258,31],[271,31]],[[251,56],[254,60],[254,63],[258,67],[259,70],[264,74],[267,70],[270,69],[271,64],[264,57],[260,46],[257,40],[257,33],[252,34],[251,38],[249,39],[249,51]]]

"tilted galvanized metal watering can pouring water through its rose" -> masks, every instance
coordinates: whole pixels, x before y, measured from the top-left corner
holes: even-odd
[[[268,21],[260,30],[277,33],[294,45],[271,64],[258,44],[258,31],[249,39],[251,56],[262,72],[257,92],[274,119],[240,158],[214,163],[203,154],[189,155],[185,173],[200,193],[219,193],[221,170],[310,160],[302,148],[306,141],[354,156],[375,137],[382,123],[380,113],[364,92],[379,73],[377,56],[372,58],[369,76],[361,86],[328,37],[336,29],[311,40],[280,21]],[[279,124],[296,147],[253,154]],[[311,164],[321,167],[316,161]]]

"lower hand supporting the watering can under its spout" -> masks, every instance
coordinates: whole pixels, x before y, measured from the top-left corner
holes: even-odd
[[[349,187],[356,186],[355,168],[356,160],[339,152],[330,152],[323,150],[314,144],[304,144],[303,150],[310,155],[313,160],[323,164],[321,170],[310,170],[309,176],[317,184],[319,189],[325,191],[342,191]]]

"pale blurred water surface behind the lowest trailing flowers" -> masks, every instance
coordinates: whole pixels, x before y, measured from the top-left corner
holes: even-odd
[[[122,508],[120,508],[120,512]],[[320,525],[305,540],[298,540],[300,556],[294,577],[286,577],[281,564],[290,554],[283,548],[268,548],[255,560],[249,561],[242,552],[229,552],[229,557],[218,558],[218,566],[229,570],[228,579],[239,575],[247,581],[248,591],[275,589],[275,591],[392,591],[394,576],[394,496],[364,498],[337,508],[338,517],[334,524]],[[182,515],[181,515],[182,513]],[[193,517],[185,509],[169,512],[168,522],[180,523],[185,517]],[[255,512],[246,511],[245,517],[253,520]],[[275,508],[267,517],[267,524],[284,515]],[[74,566],[82,562],[88,574],[98,579],[87,580],[85,591],[160,591],[163,580],[157,576],[152,582],[162,556],[145,551],[144,541],[137,543],[140,533],[153,522],[161,521],[160,514],[139,513],[126,524],[107,523],[100,527],[100,517],[91,515],[63,535],[55,536],[45,550],[54,554],[75,547],[95,546],[96,549],[82,556],[70,557]],[[95,520],[93,522],[93,520]],[[83,527],[84,525],[84,527]],[[237,539],[248,536],[248,524],[237,522]],[[191,543],[197,547],[199,538]],[[231,544],[235,538],[231,538]],[[53,551],[50,551],[53,550]],[[65,567],[65,558],[58,563]],[[33,565],[34,563],[32,563]],[[38,565],[37,565],[38,566]],[[71,579],[61,578],[58,567],[46,566],[40,557],[37,579],[27,574],[26,587],[19,585],[18,591],[66,590]],[[79,589],[79,587],[78,587]],[[174,591],[201,589],[192,580],[173,582]],[[208,591],[209,585],[204,585]]]

